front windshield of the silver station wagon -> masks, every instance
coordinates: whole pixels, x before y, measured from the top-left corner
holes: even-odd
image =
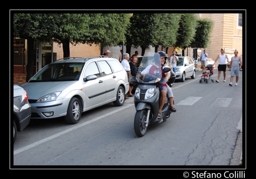
[[[42,68],[29,82],[76,81],[84,63],[53,63]]]

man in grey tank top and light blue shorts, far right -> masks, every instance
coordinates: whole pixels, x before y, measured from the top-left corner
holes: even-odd
[[[235,50],[234,51],[235,56],[231,57],[231,61],[230,61],[230,68],[229,71],[230,72],[230,86],[233,86],[232,81],[234,76],[236,75],[236,86],[237,86],[237,82],[238,82],[238,78],[239,78],[239,70],[242,68],[242,59],[240,56],[237,56],[238,51]],[[240,64],[239,64],[240,62]],[[231,69],[232,68],[232,69]]]

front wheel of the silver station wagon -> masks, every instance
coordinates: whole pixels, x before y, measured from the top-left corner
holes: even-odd
[[[76,124],[79,122],[82,114],[82,106],[77,98],[71,98],[68,104],[67,115],[64,116],[65,120],[69,124]]]

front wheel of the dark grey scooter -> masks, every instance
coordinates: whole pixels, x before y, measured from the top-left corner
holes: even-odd
[[[146,119],[147,119],[147,110],[143,109],[140,111],[137,111],[134,118],[134,130],[135,134],[139,137],[142,137],[145,135],[147,131],[146,127]]]

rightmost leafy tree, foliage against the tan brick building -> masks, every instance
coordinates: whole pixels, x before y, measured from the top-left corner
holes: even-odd
[[[214,27],[214,21],[209,18],[198,19],[196,35],[191,41],[191,48],[206,48],[211,43],[211,32]]]

